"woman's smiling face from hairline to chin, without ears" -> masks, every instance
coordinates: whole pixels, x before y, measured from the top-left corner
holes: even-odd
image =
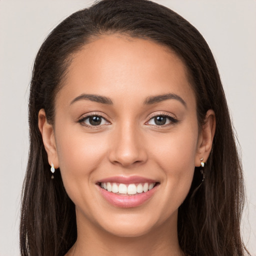
[[[200,157],[195,96],[176,54],[118,35],[84,45],[56,96],[54,136],[77,223],[119,236],[176,225]]]

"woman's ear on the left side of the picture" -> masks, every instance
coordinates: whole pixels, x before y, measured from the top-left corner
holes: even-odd
[[[38,113],[38,127],[42,135],[44,148],[48,155],[49,165],[53,163],[54,168],[58,168],[59,164],[54,130],[52,125],[47,122],[45,111],[43,108],[41,108]]]

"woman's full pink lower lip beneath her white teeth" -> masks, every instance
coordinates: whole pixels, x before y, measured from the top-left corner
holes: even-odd
[[[108,192],[104,188],[98,186],[100,193],[102,196],[112,205],[121,207],[121,208],[130,208],[136,207],[143,204],[145,201],[150,199],[154,192],[157,189],[157,186],[154,186],[152,189],[147,192],[142,192],[134,195],[119,195],[112,192]]]

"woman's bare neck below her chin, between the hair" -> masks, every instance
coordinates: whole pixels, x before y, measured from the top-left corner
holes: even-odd
[[[177,214],[145,234],[116,236],[77,214],[77,240],[66,256],[181,256],[177,238]]]

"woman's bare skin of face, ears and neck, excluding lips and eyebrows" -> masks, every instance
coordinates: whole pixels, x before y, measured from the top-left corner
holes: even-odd
[[[82,93],[109,97],[112,104]],[[143,104],[149,96],[181,97]],[[60,168],[75,204],[77,241],[66,255],[182,255],[177,210],[193,177],[211,150],[215,116],[208,110],[198,132],[196,102],[177,55],[150,40],[106,35],[73,56],[56,96],[54,128],[39,111],[39,129],[49,164]],[[79,122],[86,114],[104,116],[102,125]],[[156,125],[154,116],[175,118]],[[58,171],[58,170],[57,170]],[[97,180],[139,175],[157,180],[142,205],[116,207],[98,191]]]

